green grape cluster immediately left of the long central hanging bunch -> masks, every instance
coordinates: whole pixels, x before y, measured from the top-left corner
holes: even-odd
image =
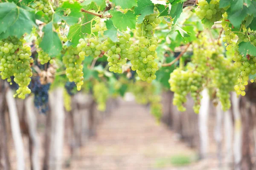
[[[104,42],[108,50],[108,68],[109,71],[114,73],[122,73],[122,65],[126,64],[126,58],[131,60],[133,56],[133,48],[130,40],[131,34],[124,34],[118,37],[119,42],[113,42],[110,38]],[[129,48],[129,49],[128,49]]]

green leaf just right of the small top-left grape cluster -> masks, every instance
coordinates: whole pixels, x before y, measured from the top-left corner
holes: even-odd
[[[80,11],[81,8],[82,6],[77,2],[69,3],[66,1],[61,7],[56,9],[55,14],[53,15],[53,21],[58,23],[61,20],[64,20],[68,25],[74,25],[78,23],[79,18],[82,17],[82,13]],[[64,12],[67,11],[67,9],[70,9],[71,11],[68,16],[64,15]]]

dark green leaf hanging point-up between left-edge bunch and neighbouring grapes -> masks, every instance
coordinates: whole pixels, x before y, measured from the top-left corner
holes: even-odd
[[[61,53],[62,44],[57,32],[53,31],[52,26],[52,22],[44,26],[44,37],[39,47],[49,54],[50,57],[55,57]]]

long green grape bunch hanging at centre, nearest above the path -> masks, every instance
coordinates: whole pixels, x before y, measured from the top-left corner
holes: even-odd
[[[158,39],[154,37],[154,28],[160,23],[158,14],[158,11],[154,11],[154,14],[145,17],[143,23],[137,24],[139,43],[131,46],[127,51],[128,54],[134,55],[134,59],[131,60],[131,69],[136,70],[138,76],[148,83],[156,79],[155,73],[158,70],[157,62],[154,61],[157,59]]]

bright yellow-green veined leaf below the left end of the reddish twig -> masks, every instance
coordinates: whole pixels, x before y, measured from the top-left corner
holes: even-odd
[[[84,14],[83,20],[80,24],[75,24],[74,26],[71,26],[68,34],[67,39],[70,40],[74,45],[78,45],[79,39],[84,38],[84,35],[91,33],[90,25],[91,23],[87,23],[91,21],[95,16],[91,14]],[[87,24],[84,24],[87,23]]]

